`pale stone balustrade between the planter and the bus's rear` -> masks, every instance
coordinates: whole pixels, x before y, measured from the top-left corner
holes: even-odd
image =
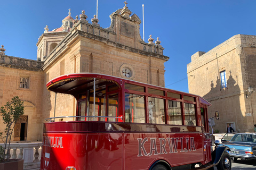
[[[4,143],[0,143],[4,147]],[[23,159],[23,169],[36,170],[40,168],[42,142],[11,143],[9,156],[11,159]]]

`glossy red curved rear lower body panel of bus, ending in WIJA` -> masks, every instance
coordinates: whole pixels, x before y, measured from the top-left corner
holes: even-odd
[[[44,133],[41,169],[119,170],[122,141],[122,133]]]

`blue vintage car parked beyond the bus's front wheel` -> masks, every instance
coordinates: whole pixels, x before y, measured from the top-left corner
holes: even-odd
[[[256,159],[256,133],[236,133],[229,142],[223,142],[220,146],[229,147],[229,155],[234,160]]]

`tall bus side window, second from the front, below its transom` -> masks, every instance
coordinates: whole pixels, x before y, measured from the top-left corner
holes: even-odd
[[[168,100],[168,124],[182,125],[181,103]]]

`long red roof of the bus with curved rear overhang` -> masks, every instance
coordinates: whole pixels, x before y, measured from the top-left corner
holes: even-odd
[[[126,82],[137,84],[138,86],[145,86],[150,88],[156,88],[158,90],[168,90],[170,92],[174,92],[177,94],[183,94],[188,96],[199,97],[199,102],[201,104],[211,106],[211,104],[205,100],[204,98],[189,94],[186,92],[181,92],[177,90],[167,89],[164,87],[154,86],[152,84],[142,83],[138,81],[123,79],[119,77],[114,77],[111,75],[98,74],[98,73],[73,73],[61,75],[57,78],[52,79],[51,81],[46,83],[47,90],[61,93],[61,94],[69,94],[76,97],[77,94],[81,93],[81,91],[85,88],[93,87],[94,78],[97,81],[97,84],[100,86],[101,84],[105,84],[106,82],[115,83],[119,88]]]

